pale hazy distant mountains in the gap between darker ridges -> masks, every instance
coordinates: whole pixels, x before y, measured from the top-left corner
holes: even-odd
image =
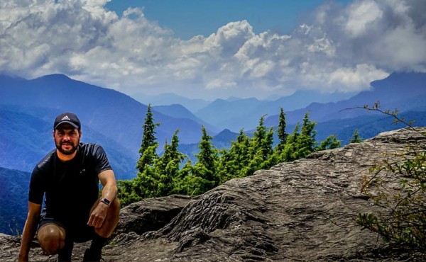
[[[217,132],[219,132],[219,130],[229,129],[234,132],[239,132],[241,129],[251,130],[255,128],[262,115],[276,115],[279,113],[280,107],[285,108],[285,110],[295,110],[298,108],[305,108],[309,106],[310,103],[341,101],[354,95],[356,95],[356,93],[353,92],[322,93],[315,90],[300,90],[290,96],[278,98],[277,96],[271,96],[266,100],[230,97],[227,99],[218,98],[214,101],[204,101],[202,99],[190,99],[177,96],[173,93],[165,93],[156,96],[136,93],[133,95],[133,98],[141,103],[151,103],[151,105],[155,106],[157,109],[163,108],[163,113],[166,115],[168,115],[168,113],[173,113],[174,115],[176,115],[177,112],[181,113],[182,109],[176,108],[177,105],[180,105],[191,112],[192,117],[190,119],[198,118],[211,124],[209,127],[212,131],[217,130]],[[186,113],[182,114],[186,115]],[[212,127],[212,125],[214,127]]]

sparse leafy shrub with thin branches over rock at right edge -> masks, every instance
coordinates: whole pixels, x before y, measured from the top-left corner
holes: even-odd
[[[379,104],[364,106],[392,115],[394,123],[405,123],[395,110],[382,111]],[[426,134],[422,134],[426,136]],[[409,148],[401,154],[393,154],[371,168],[371,176],[364,177],[362,191],[373,203],[382,207],[380,214],[361,213],[357,222],[362,227],[377,232],[383,240],[399,246],[426,250],[426,151],[425,148]],[[395,186],[395,185],[398,185]]]

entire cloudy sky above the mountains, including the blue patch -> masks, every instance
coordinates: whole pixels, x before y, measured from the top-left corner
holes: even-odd
[[[425,0],[1,0],[0,74],[133,95],[364,91],[426,72]]]

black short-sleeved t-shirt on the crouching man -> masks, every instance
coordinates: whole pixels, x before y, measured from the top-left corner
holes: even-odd
[[[99,197],[98,175],[108,169],[107,154],[97,144],[80,143],[70,161],[60,161],[54,149],[35,166],[28,200],[41,204],[45,194],[46,217],[86,224]]]

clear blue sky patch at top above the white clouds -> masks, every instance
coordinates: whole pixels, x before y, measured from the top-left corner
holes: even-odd
[[[346,5],[351,0],[337,1]],[[119,15],[127,8],[143,8],[146,18],[170,28],[176,37],[208,36],[229,22],[247,20],[255,33],[291,33],[302,18],[324,0],[112,0],[107,5]]]

